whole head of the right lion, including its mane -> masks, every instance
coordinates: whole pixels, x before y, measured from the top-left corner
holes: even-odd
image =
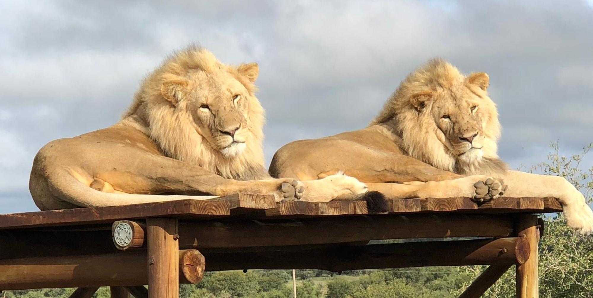
[[[486,73],[464,76],[433,59],[401,82],[371,124],[393,128],[410,157],[438,169],[473,173],[498,160],[500,124],[488,85]]]

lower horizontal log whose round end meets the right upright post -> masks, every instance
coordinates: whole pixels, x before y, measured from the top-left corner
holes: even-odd
[[[519,264],[527,260],[522,238],[403,242],[322,247],[302,251],[269,248],[235,253],[206,252],[206,271],[322,269],[334,272],[369,268]],[[444,257],[446,256],[446,257]]]

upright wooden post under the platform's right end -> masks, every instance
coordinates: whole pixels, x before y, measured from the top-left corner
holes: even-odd
[[[517,298],[538,298],[539,277],[538,277],[538,243],[540,231],[537,226],[537,215],[521,215],[517,221],[517,236],[525,238],[530,244],[530,257],[520,265],[517,265]]]

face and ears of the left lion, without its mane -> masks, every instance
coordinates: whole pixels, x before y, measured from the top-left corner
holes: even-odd
[[[189,115],[193,129],[207,147],[232,158],[246,149],[252,137],[250,107],[259,106],[240,79],[253,83],[257,73],[256,63],[238,68],[221,65],[208,72],[195,70],[183,77],[165,80],[161,92],[176,109]]]

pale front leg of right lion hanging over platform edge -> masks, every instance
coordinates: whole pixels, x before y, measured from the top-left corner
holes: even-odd
[[[508,171],[505,182],[509,184],[507,196],[556,197],[562,204],[566,223],[570,228],[584,235],[593,233],[591,208],[583,194],[563,177]]]

